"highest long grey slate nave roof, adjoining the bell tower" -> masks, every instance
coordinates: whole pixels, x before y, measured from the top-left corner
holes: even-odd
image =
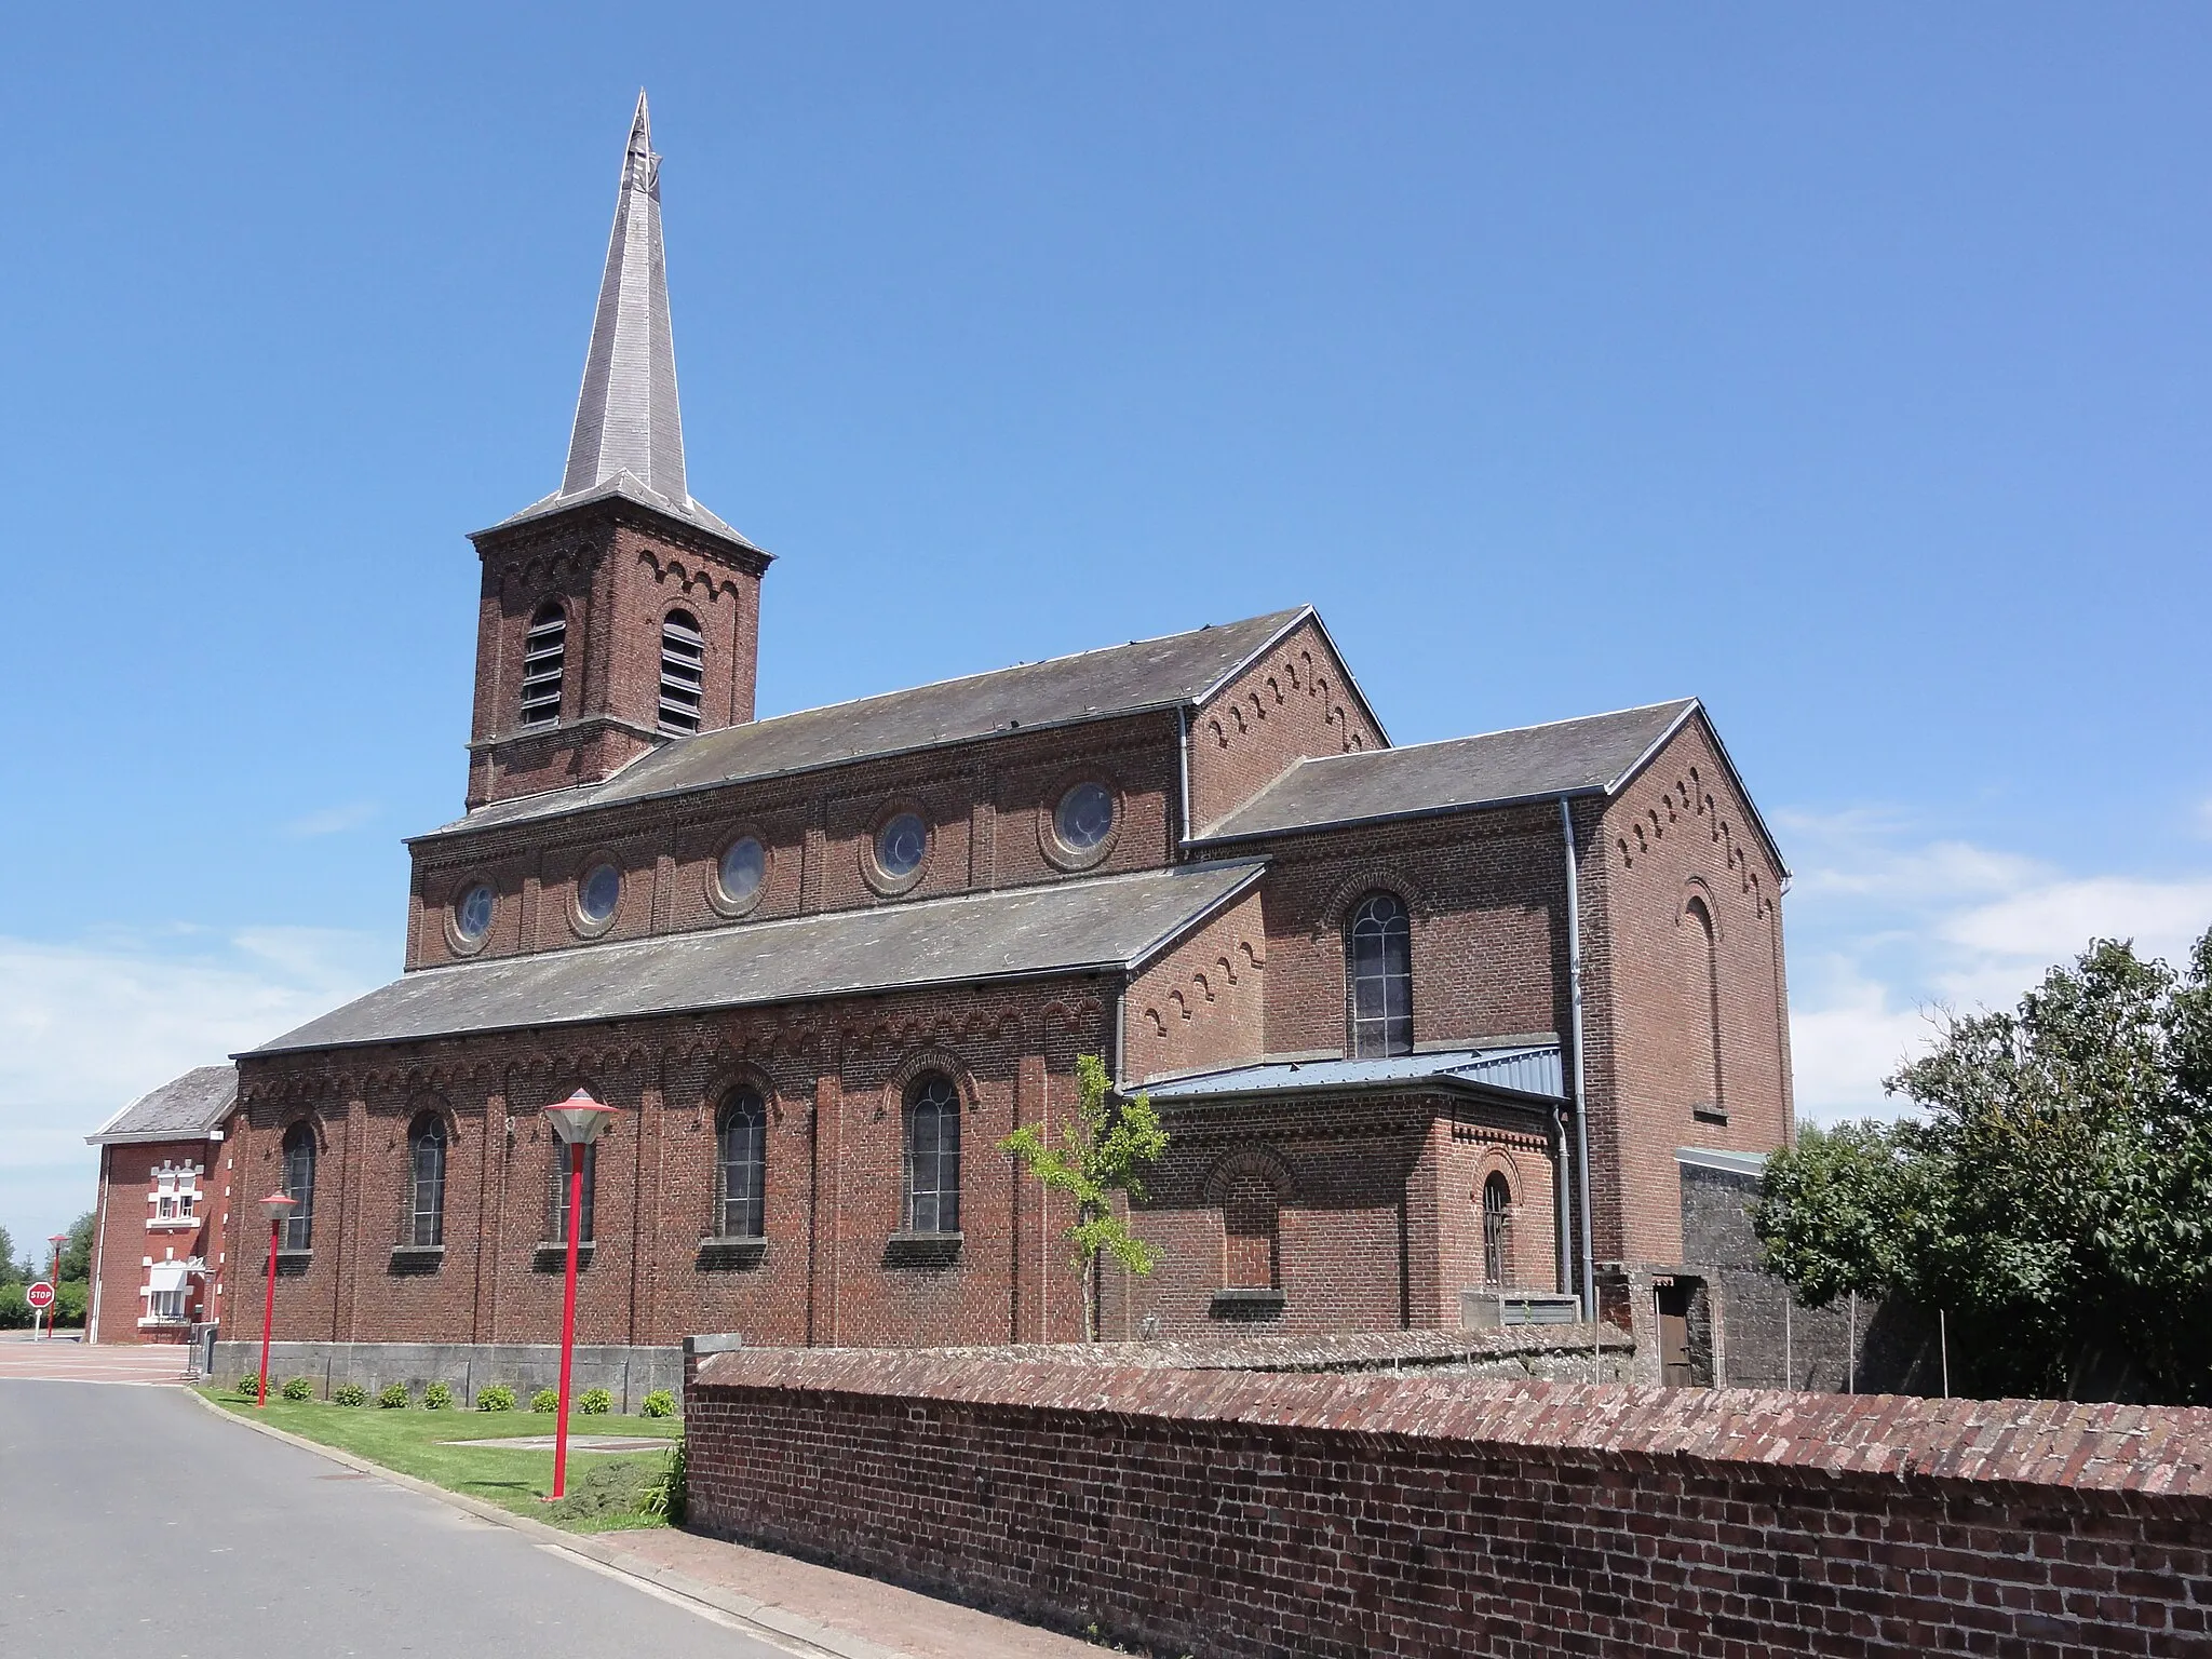
[[[613,801],[708,790],[1015,728],[1066,726],[1197,703],[1310,615],[1312,606],[1274,611],[1219,628],[1135,639],[1126,646],[726,726],[641,754],[604,783],[495,801],[431,834],[526,823]],[[416,841],[427,838],[416,836]]]

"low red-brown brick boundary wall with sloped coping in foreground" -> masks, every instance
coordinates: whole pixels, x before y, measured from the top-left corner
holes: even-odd
[[[750,1349],[690,1524],[1159,1655],[2203,1655],[2212,1411]]]

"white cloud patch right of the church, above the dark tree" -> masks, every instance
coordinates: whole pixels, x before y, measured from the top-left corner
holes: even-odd
[[[1880,1079],[1938,1011],[2011,1006],[2093,938],[2179,962],[2212,925],[2212,876],[2077,876],[1871,810],[1783,814],[1801,872],[1785,905],[1798,1115],[1896,1115]]]

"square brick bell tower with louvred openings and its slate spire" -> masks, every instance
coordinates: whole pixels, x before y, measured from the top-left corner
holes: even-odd
[[[659,170],[639,93],[568,467],[469,538],[484,562],[471,812],[752,719],[772,555],[686,489]]]

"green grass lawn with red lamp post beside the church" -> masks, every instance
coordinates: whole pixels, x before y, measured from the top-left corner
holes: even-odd
[[[274,1378],[270,1394],[274,1394]],[[325,1400],[270,1400],[268,1411],[254,1411],[250,1396],[232,1387],[208,1385],[201,1394],[226,1411],[257,1418],[272,1429],[338,1447],[356,1458],[398,1469],[447,1491],[482,1498],[518,1515],[562,1526],[571,1533],[611,1533],[630,1526],[666,1526],[668,1522],[635,1513],[637,1491],[661,1473],[668,1453],[606,1453],[568,1449],[568,1495],[560,1504],[540,1502],[553,1491],[553,1451],[507,1451],[502,1447],[453,1447],[447,1440],[518,1440],[553,1433],[551,1411],[425,1411],[411,1405],[385,1411],[372,1405],[330,1405]],[[568,1433],[653,1436],[670,1444],[684,1433],[679,1418],[571,1416]]]

